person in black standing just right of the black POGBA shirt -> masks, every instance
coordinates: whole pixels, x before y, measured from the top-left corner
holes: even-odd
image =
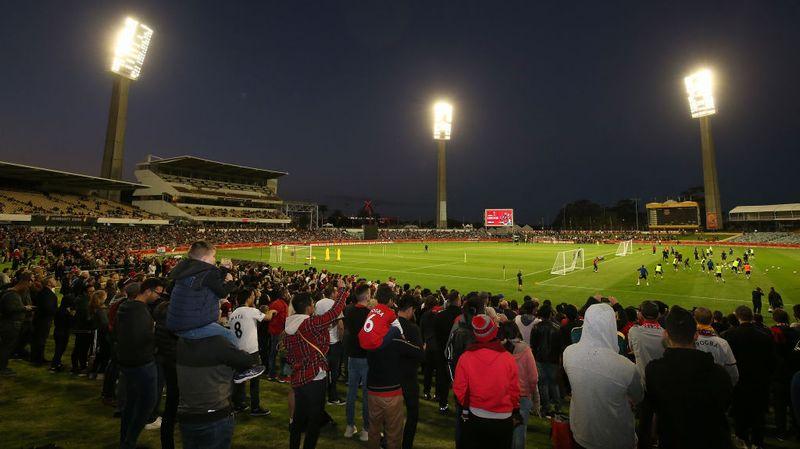
[[[753,311],[736,308],[739,325],[725,332],[739,369],[739,383],[733,390],[734,433],[750,446],[764,445],[764,416],[769,406],[770,379],[775,368],[772,337],[753,323]]]

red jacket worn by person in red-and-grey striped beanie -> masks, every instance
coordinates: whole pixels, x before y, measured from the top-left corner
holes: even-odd
[[[453,393],[465,409],[513,412],[519,408],[519,374],[514,356],[498,341],[470,345],[458,359]]]

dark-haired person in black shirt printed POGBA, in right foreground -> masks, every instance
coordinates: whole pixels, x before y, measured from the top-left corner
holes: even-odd
[[[691,312],[674,306],[664,327],[668,348],[646,368],[645,401],[658,422],[658,447],[729,449],[725,411],[733,393],[730,376],[711,355],[695,349]]]

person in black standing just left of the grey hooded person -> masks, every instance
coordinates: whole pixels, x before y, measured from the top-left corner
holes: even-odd
[[[542,398],[541,414],[552,416],[561,411],[561,396],[558,391],[558,370],[561,361],[561,328],[553,319],[553,309],[544,304],[539,309],[541,321],[531,331],[531,349],[536,359],[539,376],[539,394]]]

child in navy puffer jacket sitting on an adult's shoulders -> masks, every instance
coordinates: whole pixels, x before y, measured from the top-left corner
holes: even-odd
[[[219,300],[231,290],[225,282],[233,277],[230,273],[223,276],[222,270],[217,268],[216,254],[211,243],[194,242],[188,257],[170,272],[175,284],[167,311],[167,328],[183,338],[222,335],[236,344],[233,333],[217,323]]]

